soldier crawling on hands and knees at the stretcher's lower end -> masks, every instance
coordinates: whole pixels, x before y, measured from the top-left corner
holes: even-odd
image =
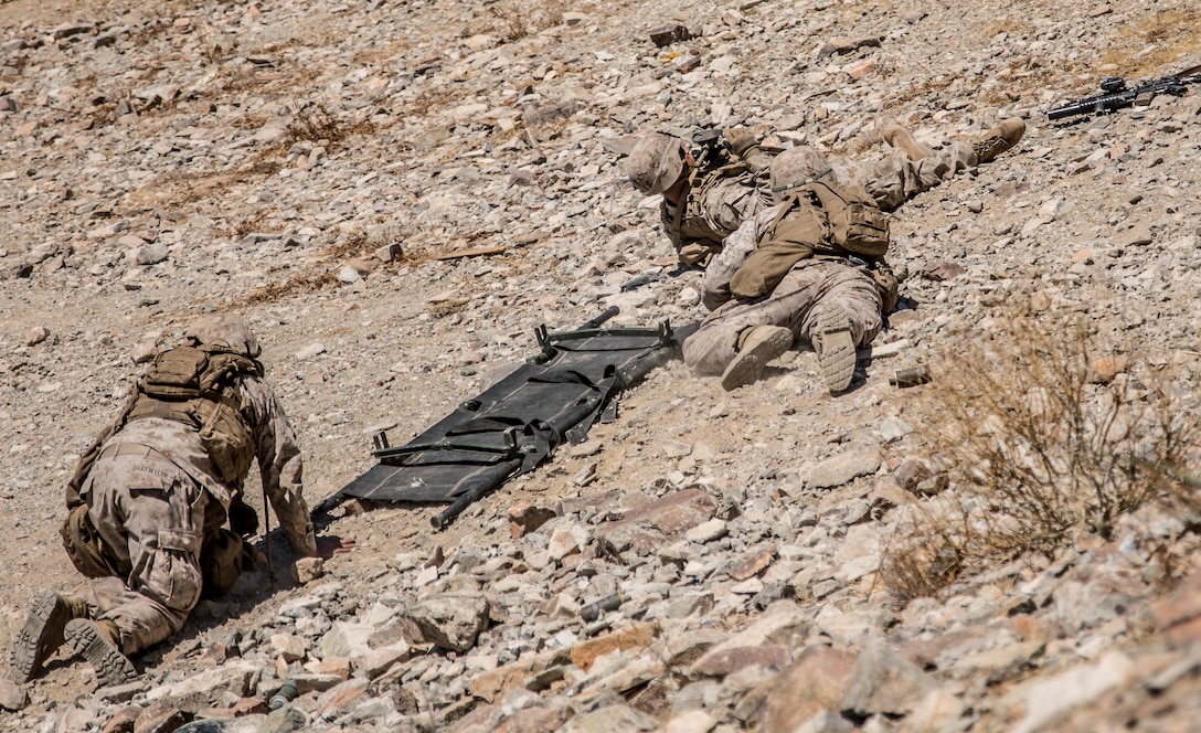
[[[282,406],[262,380],[253,334],[240,318],[208,316],[186,338],[197,352],[241,359],[237,363],[243,368],[228,377],[229,394],[221,399],[237,410],[247,429],[262,484],[292,549],[316,554],[303,496],[300,447]],[[250,457],[237,466],[240,476],[231,476],[228,466],[214,458],[211,435],[202,437],[203,425],[162,417],[167,412],[161,409],[139,415],[144,389],[143,383],[118,423],[84,457],[67,489],[68,507],[77,507],[64,525],[68,554],[89,577],[110,577],[94,583],[86,598],[52,591],[37,596],[12,650],[19,681],[36,675],[64,640],[92,663],[102,684],[136,678],[129,655],[177,633],[202,591],[211,590],[204,588],[209,568],[202,570],[202,546],[208,553],[210,540],[232,537],[237,562],[240,538],[222,529],[231,511],[241,519],[243,531],[257,529],[253,511],[241,503]],[[251,512],[251,526],[245,526],[246,512]],[[76,559],[68,535],[74,546],[90,542],[98,552],[91,566]]]

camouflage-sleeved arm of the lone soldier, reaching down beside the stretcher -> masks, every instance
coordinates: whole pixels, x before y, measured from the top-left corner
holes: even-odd
[[[304,500],[304,461],[292,423],[267,383],[246,379],[241,391],[255,409],[259,477],[283,536],[298,554],[315,555],[317,540]]]

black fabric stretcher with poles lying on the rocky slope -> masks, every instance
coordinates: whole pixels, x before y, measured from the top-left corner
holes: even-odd
[[[668,322],[657,328],[602,328],[616,306],[584,327],[537,328],[540,352],[467,400],[404,446],[386,430],[372,436],[380,463],[313,509],[349,497],[380,502],[449,502],[431,519],[449,524],[471,502],[514,476],[532,471],[563,442],[581,442],[592,424],[611,417],[614,398],[675,353]]]

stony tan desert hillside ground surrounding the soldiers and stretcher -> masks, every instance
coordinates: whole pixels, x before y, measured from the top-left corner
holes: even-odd
[[[1187,512],[1148,502],[931,597],[880,571],[958,490],[915,467],[939,373],[896,369],[1075,314],[1123,344],[1093,383],[1201,388],[1199,90],[1045,115],[1201,60],[1188,0],[10,0],[0,25],[5,645],[38,589],[83,588],[61,487],[196,315],[256,328],[316,503],[372,465],[374,429],[419,434],[539,323],[703,317],[625,181],[638,133],[743,124],[866,157],[891,119],[932,144],[1027,125],[896,213],[904,305],[849,393],[803,348],[734,393],[671,362],[446,531],[437,507],[349,506],[325,528],[349,555],[274,543],[275,578],[203,602],[132,685],[66,658],[0,680],[0,729],[1195,729]]]

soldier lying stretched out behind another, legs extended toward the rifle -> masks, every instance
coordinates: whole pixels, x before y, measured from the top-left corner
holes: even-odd
[[[831,156],[829,167],[848,184],[864,186],[884,211],[951,178],[964,168],[992,161],[1021,139],[1026,125],[1004,120],[975,142],[956,141],[943,151],[919,143],[900,125],[880,137],[886,153],[859,162]],[[723,240],[745,221],[773,204],[769,181],[772,156],[745,129],[727,131],[733,155],[698,161],[682,139],[662,133],[643,137],[626,161],[631,183],[644,195],[662,193],[659,219],[681,264],[704,269],[722,251]]]

